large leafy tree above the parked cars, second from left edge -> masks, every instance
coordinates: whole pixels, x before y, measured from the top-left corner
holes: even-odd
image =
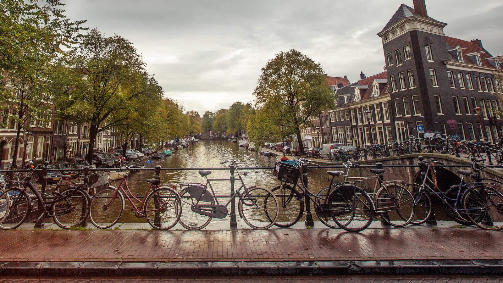
[[[97,134],[128,119],[131,101],[158,84],[145,72],[129,40],[119,35],[105,37],[97,29],[65,59],[74,83],[68,95],[59,97],[58,108],[63,117],[90,123],[86,159],[91,162]],[[109,119],[113,113],[123,115]]]

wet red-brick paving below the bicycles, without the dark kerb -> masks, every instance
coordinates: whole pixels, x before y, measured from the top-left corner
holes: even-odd
[[[503,259],[501,232],[457,228],[2,231],[0,261]]]

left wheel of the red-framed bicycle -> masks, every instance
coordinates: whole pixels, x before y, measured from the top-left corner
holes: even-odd
[[[96,228],[114,226],[124,212],[124,196],[114,186],[97,191],[89,205],[89,218]]]

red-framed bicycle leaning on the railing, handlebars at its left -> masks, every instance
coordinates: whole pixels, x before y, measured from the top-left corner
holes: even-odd
[[[126,170],[129,167],[125,166]],[[128,171],[127,171],[128,172]],[[172,188],[174,184],[159,185],[158,179],[145,179],[149,183],[143,201],[136,198],[127,184],[127,172],[117,187],[109,185],[97,191],[89,207],[89,218],[96,228],[108,229],[114,226],[124,213],[124,195],[131,210],[137,218],[145,219],[148,224],[157,230],[169,230],[175,226],[180,219],[180,195]],[[124,189],[123,185],[126,187]],[[139,202],[136,206],[134,200]],[[111,222],[110,222],[111,221]]]

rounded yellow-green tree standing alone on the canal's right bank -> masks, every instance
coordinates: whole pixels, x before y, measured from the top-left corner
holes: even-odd
[[[269,109],[281,132],[295,134],[299,143],[300,128],[310,125],[310,116],[336,107],[321,65],[294,49],[280,52],[267,62],[254,95],[258,108]],[[304,153],[302,146],[300,150]]]

